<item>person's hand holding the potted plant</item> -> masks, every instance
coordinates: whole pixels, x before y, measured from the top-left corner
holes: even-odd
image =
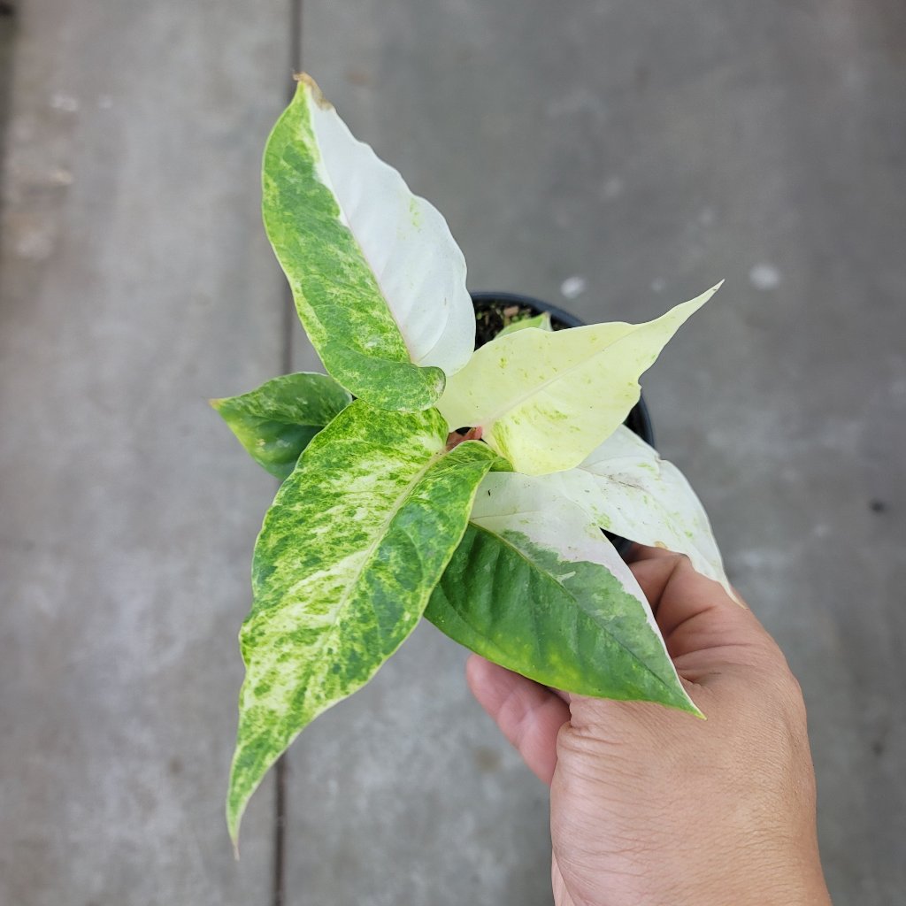
[[[557,906],[828,906],[805,704],[776,642],[689,560],[636,548],[707,720],[566,695],[473,655],[470,689],[551,787]]]

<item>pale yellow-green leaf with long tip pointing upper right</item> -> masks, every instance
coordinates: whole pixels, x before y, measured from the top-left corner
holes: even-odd
[[[483,428],[517,472],[578,466],[622,424],[639,401],[641,373],[717,289],[647,323],[498,337],[449,379],[438,408],[452,427]]]

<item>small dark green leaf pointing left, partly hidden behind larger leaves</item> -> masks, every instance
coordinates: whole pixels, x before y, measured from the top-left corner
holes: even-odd
[[[301,371],[242,396],[210,400],[259,466],[287,477],[309,441],[352,402],[326,374]]]

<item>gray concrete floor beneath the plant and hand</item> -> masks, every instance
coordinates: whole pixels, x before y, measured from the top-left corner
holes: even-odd
[[[0,903],[550,902],[545,789],[422,626],[233,862],[273,492],[205,398],[284,371],[257,168],[286,0],[20,0],[0,248]],[[802,681],[837,906],[906,891],[906,7],[306,0],[305,67],[473,288],[642,319],[659,446]],[[0,68],[0,77],[5,78]],[[0,91],[0,95],[2,95]],[[312,357],[297,329],[295,367]]]

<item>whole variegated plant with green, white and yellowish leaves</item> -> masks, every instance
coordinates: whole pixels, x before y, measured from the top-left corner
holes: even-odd
[[[622,427],[641,373],[714,290],[649,323],[519,323],[474,352],[446,221],[307,76],[267,142],[264,218],[328,374],[213,401],[283,479],[240,632],[234,841],[275,759],[422,616],[547,686],[697,714],[602,528],[727,583],[689,484]]]

